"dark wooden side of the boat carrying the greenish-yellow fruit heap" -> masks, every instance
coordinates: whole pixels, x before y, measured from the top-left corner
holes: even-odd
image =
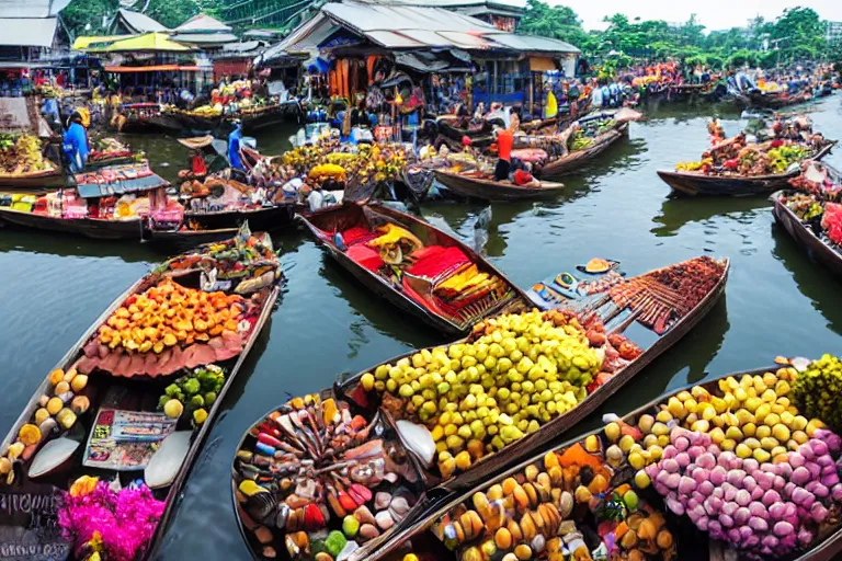
[[[680,263],[674,265],[674,267],[681,267],[684,265],[685,263]],[[456,496],[455,493],[480,488],[483,484],[487,484],[489,481],[492,481],[491,478],[494,478],[496,480],[497,477],[499,477],[499,474],[510,466],[516,466],[524,459],[534,456],[536,450],[543,449],[550,442],[556,440],[558,437],[571,431],[577,425],[577,423],[579,423],[588,414],[595,411],[611,394],[618,391],[623,385],[628,382],[646,365],[653,360],[658,355],[663,353],[667,348],[672,346],[679,339],[686,334],[687,331],[690,331],[696,323],[702,320],[702,318],[716,304],[718,297],[725,289],[725,283],[728,276],[727,260],[721,262],[721,276],[718,278],[716,284],[713,285],[709,291],[697,302],[692,311],[690,311],[686,316],[674,323],[672,328],[664,334],[656,337],[655,341],[651,341],[651,336],[649,336],[650,341],[648,344],[646,344],[646,350],[642,351],[642,354],[639,354],[637,358],[626,363],[625,366],[618,369],[611,379],[605,381],[602,386],[593,389],[587,398],[579,402],[578,405],[559,416],[550,419],[543,426],[537,428],[537,431],[524,436],[520,440],[515,440],[504,446],[498,453],[485,456],[480,459],[474,459],[474,463],[471,463],[465,471],[456,474],[455,477],[445,477],[442,479],[442,474],[434,473],[433,469],[424,469],[422,472],[422,482],[424,483],[426,491],[405,514],[402,520],[397,522],[397,524],[392,526],[391,529],[382,531],[378,537],[374,538],[369,542],[366,542],[360,550],[354,551],[348,559],[350,561],[360,561],[363,559],[400,559],[399,557],[392,558],[387,556],[400,547],[400,545],[402,545],[402,542],[408,538],[414,537],[416,535],[424,531],[433,519],[434,514],[437,513],[437,508],[442,507],[444,504],[450,504],[450,502],[454,500],[454,496]],[[664,267],[663,270],[658,271],[660,272],[667,268],[669,267]],[[614,271],[614,268],[612,268],[612,271]],[[600,277],[598,276],[596,278]],[[629,336],[634,336],[636,340],[639,339],[642,341],[647,337],[647,335],[644,333],[637,333],[636,335],[630,334],[634,329],[629,328],[639,327],[637,323],[635,323],[635,321],[641,316],[636,313],[628,316],[621,313],[621,316],[616,316],[616,310],[611,310],[611,306],[603,308],[603,305],[600,304],[601,300],[604,300],[602,296],[591,295],[591,297],[571,300],[567,304],[570,306],[576,306],[577,309],[579,309],[583,314],[595,312],[598,317],[601,317],[607,322],[613,323],[615,325],[615,328],[612,329],[614,333],[628,330]],[[611,317],[614,319],[608,319]],[[649,332],[647,331],[647,333]],[[397,423],[400,423],[400,411],[402,411],[402,409],[397,410],[395,404],[386,407],[385,400],[382,403],[376,392],[366,392],[362,386],[363,376],[366,373],[376,373],[379,368],[383,367],[388,369],[390,365],[399,364],[398,360],[412,360],[414,359],[413,357],[421,357],[424,353],[432,354],[433,352],[437,352],[439,348],[440,347],[433,347],[429,350],[413,351],[405,355],[397,356],[386,363],[366,369],[364,373],[359,373],[350,379],[340,380],[332,390],[322,391],[321,398],[322,400],[327,398],[333,398],[340,402],[350,402],[352,405],[355,405],[352,409],[355,412],[359,412],[365,419],[376,419],[378,415],[380,415],[385,416],[392,424],[396,422],[395,420],[398,420]],[[445,352],[447,352],[447,345],[444,345],[441,348],[444,348]],[[406,420],[403,422],[406,422]],[[252,431],[249,435],[246,436],[246,438],[251,438],[253,440],[255,434],[257,432]],[[410,447],[407,439],[402,439],[402,442],[405,447]],[[405,455],[402,451],[395,454],[398,456]],[[240,461],[241,458],[242,456],[238,454],[238,457],[235,460],[235,478],[239,477],[237,462]],[[330,469],[329,462],[327,466],[321,465],[321,467],[325,470]],[[237,486],[240,480],[236,480],[235,486]],[[240,493],[238,493],[238,491],[235,491],[235,496],[237,497],[236,502],[238,505],[238,517],[240,518],[243,537],[252,548],[262,548],[263,546],[258,545],[258,541],[252,535],[252,531],[255,528],[255,523],[260,525],[261,520],[253,519],[253,516],[246,518],[243,516],[244,511],[242,508],[243,497]],[[266,525],[271,526],[270,523],[266,523]],[[276,543],[283,543],[283,540],[280,542],[277,541],[278,533],[275,528],[273,528],[272,534]],[[283,529],[280,534],[283,535]],[[263,543],[265,543],[265,541]],[[254,553],[257,554],[258,551],[260,551],[260,549],[257,549]],[[260,554],[257,554],[257,557],[260,557]],[[500,557],[496,557],[494,559],[499,558]]]

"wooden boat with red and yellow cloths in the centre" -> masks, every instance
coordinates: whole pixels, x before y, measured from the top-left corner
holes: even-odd
[[[361,283],[444,333],[466,334],[486,317],[531,306],[481,255],[412,215],[346,204],[300,218]]]

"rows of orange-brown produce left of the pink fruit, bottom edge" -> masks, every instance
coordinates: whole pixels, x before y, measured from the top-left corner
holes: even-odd
[[[432,533],[460,561],[671,559],[675,539],[599,454],[549,451],[436,520]],[[591,552],[593,551],[593,557]]]

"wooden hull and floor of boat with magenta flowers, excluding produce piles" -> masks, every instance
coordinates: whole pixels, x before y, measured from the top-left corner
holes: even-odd
[[[248,240],[249,243],[252,241],[255,243],[261,241],[261,243],[266,243],[271,247],[271,240],[261,234]],[[231,243],[234,243],[234,240],[231,240]],[[53,396],[56,388],[58,388],[55,383],[55,374],[60,369],[70,377],[72,368],[76,368],[79,373],[83,371],[82,363],[90,360],[88,353],[90,353],[91,344],[95,346],[98,343],[101,325],[106,324],[106,321],[118,309],[127,306],[127,301],[134,301],[135,296],[150,287],[158,286],[159,283],[175,282],[184,287],[197,287],[200,285],[201,270],[196,266],[195,260],[214,268],[218,266],[216,264],[219,262],[215,261],[213,255],[212,250],[202,248],[201,253],[194,253],[192,256],[181,255],[174,257],[148,275],[145,275],[120,296],[58,362],[56,369],[50,373],[52,376],[48,375],[36,389],[29,404],[3,439],[3,455],[9,454],[7,450],[10,450],[10,445],[19,438],[21,428],[26,425],[32,426],[33,415],[36,410],[42,408],[43,397]],[[61,427],[66,425],[59,424],[54,432],[46,432],[45,428],[45,432],[39,436],[38,444],[30,445],[26,451],[14,460],[11,472],[13,477],[3,476],[2,485],[0,485],[0,501],[3,504],[10,505],[9,508],[3,508],[0,512],[0,535],[3,536],[3,547],[7,548],[4,551],[25,552],[20,557],[12,554],[12,558],[16,557],[18,559],[27,559],[30,561],[61,561],[78,558],[78,551],[73,551],[75,545],[62,536],[57,524],[59,501],[55,494],[57,491],[67,490],[70,483],[79,476],[91,473],[99,476],[103,481],[117,480],[121,486],[125,486],[130,481],[137,479],[153,481],[149,483],[156,486],[152,491],[153,496],[159,501],[166,501],[166,505],[163,505],[155,534],[149,542],[143,546],[143,551],[135,559],[152,558],[151,548],[160,540],[168,520],[173,514],[178,497],[210,432],[213,422],[221,412],[224,397],[232,386],[247,355],[272,314],[281,293],[277,284],[277,280],[281,278],[280,264],[276,257],[273,256],[272,261],[248,261],[244,264],[248,270],[248,275],[244,278],[251,279],[252,275],[260,274],[260,271],[269,267],[271,271],[274,271],[272,273],[274,280],[262,285],[262,287],[254,291],[246,293],[249,296],[249,302],[253,302],[253,306],[251,304],[247,305],[246,314],[241,316],[249,328],[243,328],[243,331],[237,335],[242,344],[239,352],[236,355],[228,353],[231,355],[229,358],[216,362],[218,366],[225,368],[225,380],[217,392],[217,399],[206,410],[207,417],[204,423],[201,423],[197,428],[191,430],[191,422],[186,419],[189,415],[182,416],[178,425],[174,426],[174,432],[163,440],[160,447],[163,450],[164,447],[169,446],[168,440],[173,438],[173,440],[181,445],[182,449],[175,450],[171,456],[168,453],[168,458],[161,457],[156,459],[156,453],[151,451],[151,444],[147,443],[141,446],[126,444],[126,440],[121,440],[116,436],[116,430],[114,432],[110,430],[112,424],[107,423],[107,420],[122,419],[129,424],[132,421],[128,421],[128,419],[134,417],[137,420],[137,417],[146,419],[152,416],[155,420],[160,420],[153,421],[159,424],[158,426],[166,426],[167,430],[161,428],[160,432],[153,433],[155,427],[151,425],[138,425],[138,430],[146,431],[146,434],[169,434],[173,430],[172,422],[163,421],[161,416],[155,416],[158,415],[157,413],[152,413],[156,410],[156,405],[158,405],[159,397],[163,394],[164,386],[171,383],[175,378],[184,374],[185,370],[178,370],[170,376],[118,377],[113,375],[112,370],[106,371],[95,368],[95,371],[90,373],[90,376],[87,378],[87,386],[68,393],[69,398],[73,399],[73,407],[80,405],[77,409],[78,416],[73,420],[72,427],[64,430]],[[219,266],[217,271],[227,270]],[[223,277],[223,273],[219,273],[219,276]],[[238,280],[235,280],[235,288],[244,286]],[[174,357],[174,355],[172,356]],[[193,362],[185,364],[193,364]],[[77,374],[77,377],[80,375]],[[50,377],[54,379],[50,380]],[[73,378],[75,380],[76,378]],[[62,396],[61,400],[68,396]],[[89,405],[89,408],[81,408],[83,404]],[[69,408],[70,404],[68,403],[67,407]],[[68,409],[67,411],[69,412],[70,410]],[[55,424],[55,420],[50,419],[49,421],[50,424]],[[41,426],[47,425],[42,424]],[[116,424],[113,426],[116,426]],[[113,456],[93,453],[94,449],[102,449],[100,440],[95,440],[95,446],[99,448],[92,449],[90,447],[90,439],[94,428],[96,430],[98,439],[105,437],[107,442],[114,444],[113,450],[115,454]],[[114,439],[110,439],[111,436],[114,436]],[[45,466],[41,455],[56,442],[60,442],[62,445],[76,442],[78,446],[75,451],[67,451],[64,455],[50,458],[53,463]],[[86,446],[86,442],[89,443],[89,446]],[[151,442],[155,440],[152,439]],[[136,454],[123,455],[123,450],[128,451],[126,446],[133,447]],[[140,448],[143,446],[147,447],[147,453],[144,453],[141,457]],[[82,454],[80,454],[80,449]],[[116,454],[118,451],[121,454]],[[172,447],[170,447],[170,451],[173,451]],[[151,459],[149,459],[149,453],[151,453]],[[52,451],[49,454],[50,456],[53,455]],[[44,455],[46,456],[47,453],[44,453]],[[151,466],[152,462],[157,463],[155,466],[155,473],[151,472],[151,468],[150,470],[145,470],[145,467]],[[160,469],[162,463],[163,470]],[[38,467],[38,477],[31,478],[31,469],[35,466]],[[126,470],[126,467],[132,469]],[[25,503],[20,502],[24,497]]]

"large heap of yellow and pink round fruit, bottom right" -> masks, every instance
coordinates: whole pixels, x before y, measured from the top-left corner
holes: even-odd
[[[838,421],[839,392],[827,389],[839,371],[824,356],[800,375],[786,367],[724,378],[718,391],[696,386],[636,426],[606,425],[605,457],[638,470],[638,489],[651,484],[670,511],[749,558],[805,550],[842,502],[842,439],[808,419]]]

